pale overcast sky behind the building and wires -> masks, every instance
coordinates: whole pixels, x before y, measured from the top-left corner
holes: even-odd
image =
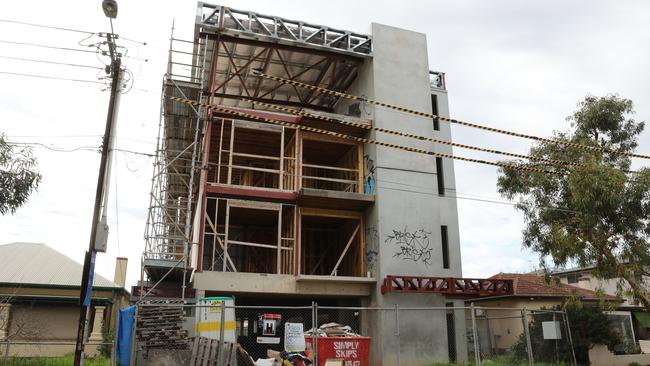
[[[635,102],[637,120],[650,120],[650,2],[404,0],[397,6],[390,1],[224,0],[218,4],[361,33],[369,33],[372,22],[425,33],[430,69],[446,73],[452,118],[549,136],[569,127],[565,118],[585,95],[617,93]],[[124,64],[134,82],[121,98],[118,149],[155,152],[172,24],[176,38],[191,39],[195,13],[195,1],[119,1],[113,25],[119,44],[128,51]],[[0,244],[46,243],[82,262],[109,92],[101,83],[8,73],[103,82],[98,77],[105,76],[102,69],[108,59],[93,52],[8,43],[93,50],[87,45],[99,38],[6,20],[95,33],[110,31],[110,24],[99,0],[0,3],[0,132],[12,142],[45,145],[34,148],[43,181],[25,206],[0,216]],[[457,126],[452,126],[452,136],[459,143],[517,153],[530,147],[527,140]],[[650,132],[641,135],[638,151],[650,154]],[[153,159],[117,152],[113,162],[108,252],[98,255],[97,272],[112,279],[115,257],[128,257],[127,284],[132,285],[140,278]],[[641,164],[635,162],[636,167]],[[504,202],[496,191],[494,167],[456,161],[455,169],[459,196]],[[459,199],[458,211],[464,277],[535,268],[536,255],[521,247],[522,215],[511,205]]]

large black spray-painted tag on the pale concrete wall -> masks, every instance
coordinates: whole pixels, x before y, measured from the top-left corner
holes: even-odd
[[[413,262],[422,262],[427,266],[431,265],[433,248],[429,241],[431,232],[424,229],[409,231],[405,226],[404,230],[394,230],[386,238],[387,244],[397,247],[393,257],[410,260]]]

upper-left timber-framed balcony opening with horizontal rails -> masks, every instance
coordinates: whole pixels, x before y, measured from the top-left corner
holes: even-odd
[[[227,119],[212,126],[208,182],[294,189],[295,130]]]

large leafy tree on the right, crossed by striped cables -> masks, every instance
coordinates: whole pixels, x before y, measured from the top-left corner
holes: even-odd
[[[551,168],[562,174],[501,168],[499,193],[519,199],[516,208],[525,219],[523,246],[539,254],[542,266],[546,258],[559,266],[594,266],[597,277],[627,283],[650,310],[641,280],[650,268],[650,169],[630,171],[630,157],[611,152],[632,153],[644,123],[631,118],[632,101],[616,95],[587,96],[578,107],[567,118],[569,132],[555,132],[553,138],[610,151],[539,143],[530,155],[579,166]],[[511,163],[544,167],[538,162]]]

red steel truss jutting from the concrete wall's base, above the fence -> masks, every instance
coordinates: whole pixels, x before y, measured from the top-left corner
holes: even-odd
[[[394,276],[384,279],[381,293],[436,293],[450,297],[487,297],[513,294],[513,281],[426,276]]]

